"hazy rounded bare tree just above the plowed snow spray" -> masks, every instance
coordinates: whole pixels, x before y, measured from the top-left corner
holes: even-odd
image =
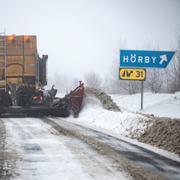
[[[89,72],[85,75],[85,83],[89,87],[100,88],[102,79],[99,74],[95,72]]]

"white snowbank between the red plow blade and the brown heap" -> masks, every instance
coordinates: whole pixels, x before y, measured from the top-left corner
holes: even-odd
[[[152,125],[152,120],[142,115],[108,111],[99,99],[89,94],[84,99],[83,109],[76,121],[128,137],[139,137]]]

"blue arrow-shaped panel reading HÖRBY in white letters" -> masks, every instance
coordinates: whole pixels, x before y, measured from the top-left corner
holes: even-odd
[[[120,67],[165,68],[174,51],[120,50]]]

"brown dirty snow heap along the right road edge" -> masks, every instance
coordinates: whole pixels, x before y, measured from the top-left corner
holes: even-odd
[[[180,120],[158,118],[138,140],[174,152],[180,156],[179,129]]]

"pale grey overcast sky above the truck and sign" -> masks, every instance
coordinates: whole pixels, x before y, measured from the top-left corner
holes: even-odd
[[[120,48],[175,49],[180,29],[180,0],[0,0],[0,6],[0,31],[37,35],[49,75],[104,76]]]

